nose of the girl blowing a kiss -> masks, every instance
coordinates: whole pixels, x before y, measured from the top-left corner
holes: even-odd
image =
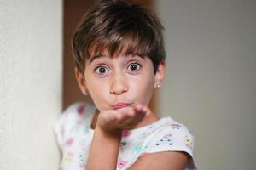
[[[126,78],[122,74],[114,74],[111,80],[110,94],[120,95],[128,91]]]

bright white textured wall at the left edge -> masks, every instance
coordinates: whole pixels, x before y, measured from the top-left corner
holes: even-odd
[[[0,169],[55,170],[62,1],[0,0]]]

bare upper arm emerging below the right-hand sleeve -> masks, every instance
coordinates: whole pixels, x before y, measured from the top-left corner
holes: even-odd
[[[185,152],[166,151],[148,154],[139,158],[129,170],[183,170],[189,161],[189,154]]]

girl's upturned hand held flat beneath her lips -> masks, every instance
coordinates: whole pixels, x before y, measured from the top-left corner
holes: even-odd
[[[122,130],[135,127],[150,112],[148,107],[143,105],[102,111],[98,116],[96,126],[106,133],[120,133]]]

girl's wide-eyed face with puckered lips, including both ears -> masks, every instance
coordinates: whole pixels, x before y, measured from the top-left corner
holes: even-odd
[[[136,104],[148,105],[154,87],[164,78],[162,62],[154,74],[152,61],[137,54],[107,54],[86,61],[84,78],[76,70],[79,87],[86,88],[99,111],[119,109]]]

